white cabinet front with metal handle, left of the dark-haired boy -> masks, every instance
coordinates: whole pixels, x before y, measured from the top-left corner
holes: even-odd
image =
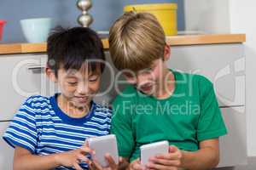
[[[24,100],[34,94],[49,94],[49,81],[44,75],[45,54],[0,56],[0,121],[11,120]],[[35,67],[35,66],[38,66]]]

